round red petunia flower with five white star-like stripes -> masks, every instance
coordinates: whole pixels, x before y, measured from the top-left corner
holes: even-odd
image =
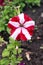
[[[33,35],[34,26],[34,21],[24,13],[11,18],[8,23],[8,27],[11,29],[11,37],[14,40],[30,40]]]

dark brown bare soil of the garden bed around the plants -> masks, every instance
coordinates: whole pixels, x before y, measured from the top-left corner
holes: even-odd
[[[41,4],[40,7],[32,7],[32,9],[26,7],[24,12],[35,21],[36,29],[34,30],[34,35],[32,36],[31,41],[21,42],[23,62],[26,65],[43,65],[43,4]],[[0,36],[8,41],[9,34],[6,32],[1,32]],[[5,47],[5,45],[0,47],[0,58],[2,50]],[[26,58],[26,52],[32,52],[30,54],[30,61]]]

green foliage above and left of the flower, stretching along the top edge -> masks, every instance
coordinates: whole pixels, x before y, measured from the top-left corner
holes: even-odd
[[[10,30],[7,27],[9,19],[23,12],[26,4],[28,7],[32,7],[32,5],[39,6],[40,0],[5,0],[4,3],[5,6],[0,6],[0,32],[5,30],[9,33]],[[17,8],[17,6],[20,6],[20,8]]]

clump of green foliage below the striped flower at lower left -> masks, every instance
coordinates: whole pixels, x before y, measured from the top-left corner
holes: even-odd
[[[16,46],[18,49],[16,49]],[[17,65],[22,60],[21,51],[19,48],[20,43],[18,41],[14,41],[10,38],[9,44],[2,52],[2,59],[0,60],[0,65]]]

